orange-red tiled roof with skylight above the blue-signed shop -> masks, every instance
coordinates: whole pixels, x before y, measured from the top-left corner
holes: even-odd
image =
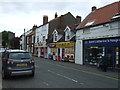
[[[120,1],[92,11],[83,22],[78,25],[77,29],[107,23],[118,13],[120,13]]]

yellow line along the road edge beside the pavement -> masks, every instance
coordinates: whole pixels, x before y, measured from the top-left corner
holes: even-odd
[[[76,71],[82,71],[84,73],[89,73],[89,74],[100,76],[100,77],[106,77],[106,78],[113,79],[113,80],[120,80],[119,78],[115,78],[115,77],[110,77],[110,76],[107,76],[107,75],[94,73],[94,72],[91,72],[91,71],[88,71],[88,70],[84,70],[84,69],[77,69],[77,68],[73,68],[73,67],[69,67],[69,66],[65,66],[65,65],[53,64],[53,63],[50,63],[50,62],[46,62],[46,63],[52,64],[52,65],[55,65],[55,66],[64,67],[64,68],[71,68],[71,69],[76,70]]]

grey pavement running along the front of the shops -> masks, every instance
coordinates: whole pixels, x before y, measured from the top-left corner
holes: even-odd
[[[35,57],[35,58],[36,60],[47,60],[48,63],[53,64],[53,65],[59,65],[62,67],[71,68],[74,70],[82,71],[82,72],[89,73],[89,74],[94,74],[94,75],[101,76],[101,77],[111,78],[114,80],[120,80],[120,73],[118,71],[114,71],[111,69],[108,69],[107,72],[103,72],[101,69],[97,68],[97,66],[80,65],[80,64],[75,64],[71,62],[63,62],[63,61],[58,62],[58,61],[53,61],[53,60],[38,58],[38,57]]]

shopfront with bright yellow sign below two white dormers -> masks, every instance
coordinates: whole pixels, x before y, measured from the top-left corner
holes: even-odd
[[[74,58],[73,42],[50,43],[48,46],[50,47],[51,53],[55,53],[58,61],[64,60],[65,57]]]

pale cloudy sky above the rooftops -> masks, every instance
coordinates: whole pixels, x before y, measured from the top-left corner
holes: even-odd
[[[19,37],[33,25],[43,24],[43,16],[48,21],[70,12],[82,20],[91,12],[91,7],[101,8],[119,0],[0,0],[0,32],[12,31]]]

